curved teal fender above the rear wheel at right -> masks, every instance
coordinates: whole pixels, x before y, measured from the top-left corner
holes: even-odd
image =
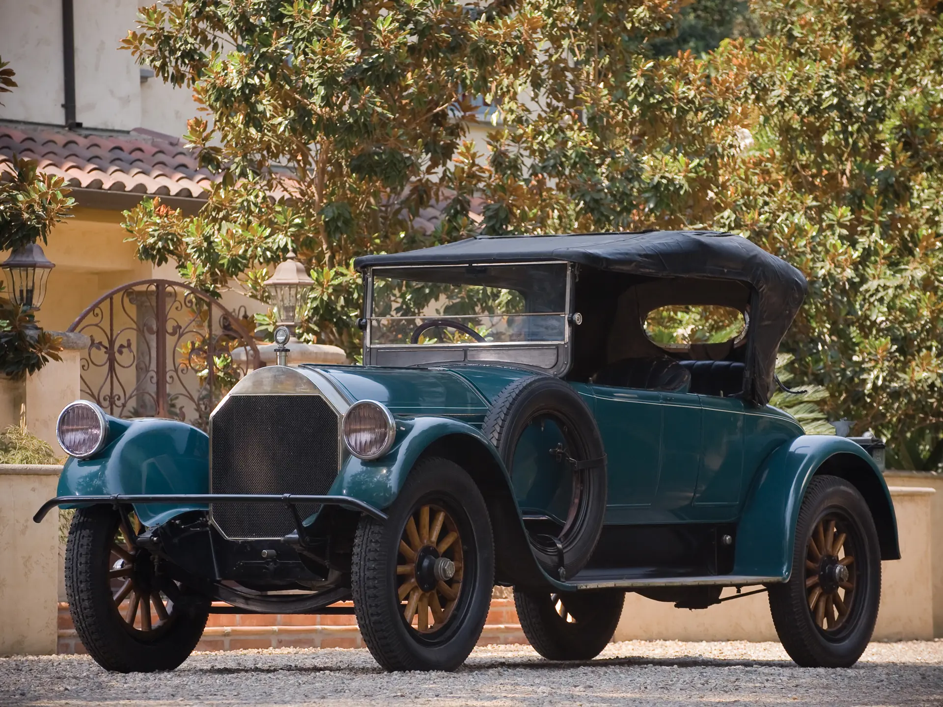
[[[816,469],[835,454],[853,454],[873,474],[884,491],[890,512],[893,545],[897,546],[894,504],[884,480],[868,452],[845,437],[805,435],[778,446],[756,471],[736,531],[734,574],[788,580],[792,572],[799,508]]]

